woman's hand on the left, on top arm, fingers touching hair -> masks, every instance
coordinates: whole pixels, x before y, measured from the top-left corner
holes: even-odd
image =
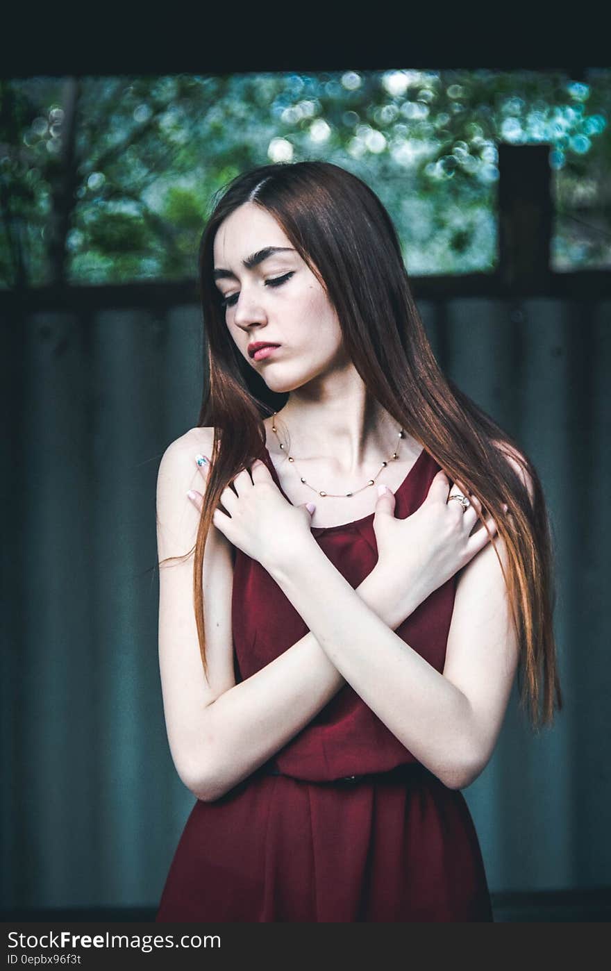
[[[195,460],[208,479],[209,462]],[[234,547],[257,560],[269,572],[271,568],[284,566],[287,559],[311,538],[310,520],[314,513],[313,503],[293,506],[283,496],[272,475],[260,459],[255,459],[251,469],[242,469],[221,492],[221,504],[212,521]],[[236,494],[237,493],[237,494]],[[197,492],[189,498],[199,510],[202,496]],[[311,507],[308,509],[307,507]]]

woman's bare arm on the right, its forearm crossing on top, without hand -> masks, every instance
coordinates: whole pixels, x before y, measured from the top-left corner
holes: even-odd
[[[438,491],[446,522],[456,522],[443,481]],[[389,524],[403,530],[409,519],[415,517]],[[473,539],[478,532],[486,535],[480,524]],[[494,545],[506,568],[502,540]],[[443,673],[356,597],[314,541],[270,572],[329,660],[392,734],[444,785],[469,786],[492,755],[519,658],[492,544],[459,572]],[[371,577],[384,584],[379,564]]]

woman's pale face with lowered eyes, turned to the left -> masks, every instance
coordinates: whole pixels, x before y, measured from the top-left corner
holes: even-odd
[[[215,278],[238,350],[273,391],[291,391],[349,363],[326,291],[276,220],[247,202],[217,231]],[[278,345],[259,358],[249,345]]]

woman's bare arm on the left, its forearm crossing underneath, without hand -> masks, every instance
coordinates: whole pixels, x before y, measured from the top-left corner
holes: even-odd
[[[212,429],[191,429],[163,455],[157,479],[159,560],[187,552],[195,542],[199,515],[186,492],[201,488],[194,455],[211,453],[212,435]],[[253,677],[235,684],[231,546],[214,525],[203,568],[207,681],[192,607],[192,563],[191,555],[159,571],[159,665],[177,772],[197,798],[212,801],[287,745],[346,681],[310,632]],[[398,626],[420,602],[401,607],[399,616],[375,570],[353,593],[385,629],[386,623]],[[312,604],[318,599],[318,591],[312,591]]]

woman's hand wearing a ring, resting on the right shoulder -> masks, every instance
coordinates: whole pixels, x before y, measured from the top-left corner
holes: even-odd
[[[463,512],[450,495],[465,494],[470,506]],[[433,478],[423,504],[406,519],[394,518],[394,495],[387,491],[376,504],[373,528],[378,546],[375,573],[382,579],[390,599],[405,601],[413,609],[458,573],[496,533],[496,523],[486,519],[471,533],[481,503],[474,495],[450,480],[443,470]],[[481,520],[479,520],[481,523]]]

